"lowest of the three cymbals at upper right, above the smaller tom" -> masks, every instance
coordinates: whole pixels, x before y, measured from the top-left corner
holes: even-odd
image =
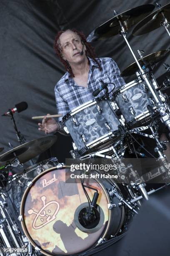
[[[143,65],[145,65],[145,63],[143,61],[146,61],[150,64],[153,64],[153,63],[155,64],[155,63],[159,62],[161,59],[163,59],[169,53],[170,53],[169,49],[155,51],[152,54],[149,54],[141,59],[138,59],[138,61],[139,61],[141,67]],[[135,72],[137,72],[138,69],[139,69],[139,67],[138,67],[137,63],[133,62],[128,67],[126,67],[120,75],[122,77],[128,77],[128,76],[135,74]]]

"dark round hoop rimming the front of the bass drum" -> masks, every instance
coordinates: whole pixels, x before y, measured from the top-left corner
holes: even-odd
[[[50,172],[51,170],[54,170],[54,169],[56,169],[56,168],[57,168],[57,166],[52,167],[52,168],[50,168],[50,169],[47,169],[47,170],[45,170],[44,172],[41,172],[40,174],[38,174],[38,175],[32,180],[32,185],[34,184],[35,181],[37,181],[37,179],[39,179],[39,177],[43,176],[44,174],[46,174],[46,173],[48,173],[48,172]],[[61,166],[61,165],[59,165],[57,169],[62,169],[62,168],[70,168],[70,166],[68,166],[68,165],[63,165],[63,166]],[[98,179],[95,179],[95,180],[98,181]],[[111,181],[111,179],[109,179],[109,180]],[[103,189],[104,192],[105,192],[105,196],[106,196],[106,199],[107,199],[107,203],[109,203],[111,200],[110,200],[110,197],[109,197],[109,195],[108,195],[108,193],[107,193],[107,190],[105,189],[105,187],[103,186],[102,183],[99,183],[99,184],[100,184],[100,186],[102,187],[102,189]],[[24,206],[25,206],[25,203],[24,203],[24,202],[25,202],[25,198],[26,198],[26,196],[28,195],[28,192],[29,192],[29,190],[30,190],[31,187],[32,187],[32,186],[26,188],[26,190],[25,190],[25,192],[24,192],[24,194],[23,194],[22,200],[21,200],[21,205],[20,205],[20,216],[22,216],[21,226],[22,226],[22,228],[23,228],[23,231],[24,231],[24,233],[25,233],[25,236],[28,238],[28,240],[30,241],[30,243],[32,244],[32,246],[33,246],[34,248],[39,248],[39,249],[40,249],[40,252],[43,253],[45,256],[52,256],[52,254],[45,252],[44,250],[42,250],[40,247],[37,246],[37,244],[33,241],[32,237],[31,237],[30,234],[28,233],[27,227],[26,227],[26,225],[25,225],[25,220],[24,220],[24,218],[23,218],[23,215],[24,215],[24,214],[23,214],[23,213],[24,213],[23,210],[24,210]],[[105,236],[107,235],[107,230],[108,230],[108,228],[110,227],[110,222],[111,222],[111,213],[112,213],[112,211],[108,209],[108,221],[107,221],[107,224],[106,224],[107,226],[106,226],[106,229],[105,229],[105,231],[104,231],[102,237],[99,237],[99,240],[100,240],[100,238],[104,239]],[[123,212],[122,212],[122,214],[123,214]],[[98,240],[98,241],[99,241],[99,240]],[[98,241],[97,241],[97,243],[96,243],[96,246],[98,245]]]

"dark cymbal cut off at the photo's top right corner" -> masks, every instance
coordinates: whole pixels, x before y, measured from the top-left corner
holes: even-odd
[[[170,20],[170,3],[164,5],[163,7],[155,10],[155,12],[151,13],[133,29],[133,36],[140,36],[150,31],[155,30],[156,28],[160,28],[160,22],[163,20],[163,15],[165,18]]]

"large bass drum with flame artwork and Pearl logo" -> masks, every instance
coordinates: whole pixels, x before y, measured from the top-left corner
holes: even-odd
[[[104,238],[119,233],[125,209],[117,198],[107,193],[111,179],[85,179],[84,184],[98,190],[95,220],[85,221],[88,202],[81,183],[65,182],[67,171],[62,164],[47,169],[25,190],[20,208],[21,224],[32,246],[44,255],[80,255]],[[85,188],[92,200],[94,190]],[[119,188],[117,190],[120,193]],[[121,194],[121,193],[120,193]],[[109,210],[110,204],[115,204]]]

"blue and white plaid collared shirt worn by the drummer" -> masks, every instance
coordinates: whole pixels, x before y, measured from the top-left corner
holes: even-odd
[[[57,105],[57,113],[62,116],[66,115],[70,110],[77,108],[87,101],[94,99],[92,92],[103,82],[112,82],[116,87],[123,86],[125,81],[120,77],[120,70],[115,61],[111,58],[99,58],[102,70],[98,68],[95,61],[89,58],[90,71],[87,80],[87,88],[78,86],[70,74],[66,72],[64,76],[57,82],[55,86],[55,99]],[[109,92],[113,89],[113,84],[108,84]],[[102,90],[97,97],[103,96],[105,90]],[[62,117],[58,118],[61,121]]]

